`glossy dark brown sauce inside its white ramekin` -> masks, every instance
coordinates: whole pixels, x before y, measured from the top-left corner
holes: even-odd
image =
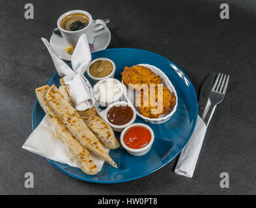
[[[114,125],[124,125],[134,116],[134,112],[128,105],[115,105],[107,112],[107,120]]]

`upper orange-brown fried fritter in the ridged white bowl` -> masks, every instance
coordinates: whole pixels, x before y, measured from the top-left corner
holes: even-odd
[[[162,81],[160,76],[156,76],[154,72],[152,72],[149,68],[145,66],[137,66],[134,65],[130,68],[128,66],[124,67],[124,71],[121,73],[122,81],[124,85],[129,84],[161,84]],[[139,87],[139,86],[138,86]],[[132,88],[136,88],[136,86],[132,86]]]

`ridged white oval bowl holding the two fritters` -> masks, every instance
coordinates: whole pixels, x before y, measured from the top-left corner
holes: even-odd
[[[171,116],[173,116],[173,114],[175,114],[175,111],[177,109],[177,105],[178,105],[178,96],[177,96],[177,92],[173,86],[173,84],[171,83],[171,81],[169,80],[169,78],[167,77],[167,75],[165,75],[164,72],[162,72],[160,69],[156,68],[156,66],[152,66],[150,64],[137,64],[139,66],[145,66],[147,68],[149,68],[152,72],[156,73],[156,75],[160,76],[161,80],[162,80],[162,84],[164,86],[166,86],[173,95],[176,96],[176,104],[175,106],[173,107],[173,110],[171,112],[167,112],[165,114],[162,114],[159,116],[159,118],[148,118],[148,117],[145,117],[141,114],[141,111],[139,109],[139,107],[135,107],[135,102],[136,101],[133,101],[134,98],[129,98],[129,95],[128,95],[128,86],[126,85],[122,85],[123,88],[124,88],[124,96],[126,98],[126,100],[129,102],[129,103],[132,103],[132,105],[134,105],[135,107],[135,110],[136,110],[136,113],[137,113],[137,116],[139,116],[140,118],[142,118],[143,120],[145,120],[145,122],[149,122],[149,123],[153,123],[153,124],[160,124],[160,123],[165,123],[167,122]],[[123,83],[123,82],[122,82]]]

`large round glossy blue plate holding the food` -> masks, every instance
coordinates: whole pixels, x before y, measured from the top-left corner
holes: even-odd
[[[50,159],[48,161],[65,174],[83,181],[94,183],[132,181],[152,174],[152,172],[162,168],[184,148],[192,135],[197,121],[197,96],[186,74],[173,62],[156,53],[130,48],[106,49],[92,53],[92,60],[100,57],[106,57],[115,62],[117,66],[115,78],[119,80],[121,80],[121,72],[124,66],[151,64],[160,68],[169,77],[173,86],[175,86],[178,95],[177,110],[168,122],[162,124],[147,123],[154,131],[155,140],[152,148],[146,155],[135,157],[122,148],[110,150],[109,155],[117,163],[118,169],[105,162],[100,173],[87,175],[79,168],[51,161]],[[56,73],[48,81],[48,85],[54,84],[59,86],[60,78]],[[89,81],[91,80],[89,79]],[[93,85],[92,81],[91,84]],[[33,129],[42,121],[44,115],[44,111],[38,101],[36,101],[33,112]],[[146,123],[141,118],[138,118],[138,116],[135,122]]]

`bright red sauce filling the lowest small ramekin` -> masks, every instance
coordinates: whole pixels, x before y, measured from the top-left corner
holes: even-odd
[[[123,140],[124,144],[128,146],[128,148],[140,149],[149,144],[151,140],[151,133],[149,129],[143,126],[135,125],[130,127],[130,129],[124,133]]]

